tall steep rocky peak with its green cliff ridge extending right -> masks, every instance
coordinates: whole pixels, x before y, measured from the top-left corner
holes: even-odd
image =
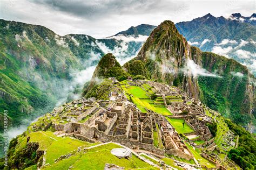
[[[254,119],[255,77],[233,59],[191,47],[171,21],[153,30],[134,60],[145,63],[151,79],[181,87],[237,123]]]

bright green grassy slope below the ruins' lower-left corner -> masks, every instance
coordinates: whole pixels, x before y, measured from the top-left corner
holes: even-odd
[[[53,164],[55,159],[61,155],[76,150],[79,146],[89,147],[92,145],[82,140],[72,139],[69,137],[57,137],[50,131],[38,131],[29,134],[30,141],[39,142],[39,147],[46,151],[46,164]]]

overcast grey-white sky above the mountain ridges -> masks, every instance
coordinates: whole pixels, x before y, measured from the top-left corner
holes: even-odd
[[[228,17],[232,13],[251,16],[255,1],[178,0],[0,0],[0,18],[48,27],[57,34],[87,34],[95,38],[112,36],[139,24],[158,25],[192,20],[211,13]]]

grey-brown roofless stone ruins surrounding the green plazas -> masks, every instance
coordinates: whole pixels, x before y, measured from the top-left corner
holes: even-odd
[[[111,80],[116,83],[115,79]],[[188,97],[178,88],[158,82],[136,80],[127,83],[131,86],[143,86],[147,83],[152,87],[152,91],[155,91],[157,96],[163,97],[159,100],[164,101],[165,107],[173,113],[169,117],[184,119],[194,130],[191,134],[185,135],[195,135],[201,140],[212,138],[206,126],[207,122],[211,122],[211,118],[205,115],[200,101]],[[123,93],[120,93],[120,90],[111,91],[109,98],[109,101],[82,98],[64,104],[55,110],[60,120],[52,124],[53,128],[60,131],[59,133],[68,133],[80,140],[103,143],[113,141],[132,149],[147,150],[158,155],[171,154],[188,160],[193,159],[193,154],[184,144],[183,139],[164,116],[148,109],[146,113],[141,112]],[[164,149],[153,145],[154,132],[157,132],[159,142],[163,143]]]

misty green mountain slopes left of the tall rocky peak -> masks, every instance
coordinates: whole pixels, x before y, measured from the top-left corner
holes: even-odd
[[[10,125],[77,98],[91,78],[83,73],[94,70],[109,52],[120,63],[130,60],[149,35],[148,27],[137,27],[136,36],[144,30],[144,39],[130,38],[131,34],[122,36],[125,40],[96,39],[85,34],[59,36],[44,26],[0,19],[0,108],[9,110]]]

